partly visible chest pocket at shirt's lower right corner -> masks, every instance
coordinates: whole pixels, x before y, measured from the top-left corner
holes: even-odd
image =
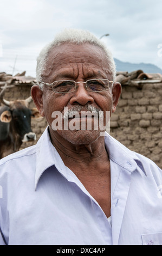
[[[141,235],[142,245],[162,245],[162,233]]]

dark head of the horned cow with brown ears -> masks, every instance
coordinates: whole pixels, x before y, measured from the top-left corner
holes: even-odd
[[[22,142],[34,141],[36,134],[31,130],[31,118],[41,117],[36,108],[29,109],[31,96],[26,100],[7,101],[3,99],[3,103],[9,107],[0,117],[4,123],[10,123],[12,132],[20,137]]]

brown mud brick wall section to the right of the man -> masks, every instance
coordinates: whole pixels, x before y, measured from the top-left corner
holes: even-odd
[[[122,86],[111,136],[162,168],[162,83]]]

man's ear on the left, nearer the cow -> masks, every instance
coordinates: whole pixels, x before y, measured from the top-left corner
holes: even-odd
[[[34,85],[31,87],[31,97],[37,107],[40,115],[44,117],[44,108],[43,108],[43,91],[40,89],[39,86]]]

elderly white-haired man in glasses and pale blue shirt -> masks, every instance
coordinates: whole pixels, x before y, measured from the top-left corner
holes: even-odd
[[[121,94],[114,79],[89,32],[66,30],[42,50],[31,96],[49,126],[0,162],[2,245],[162,244],[161,170],[103,136]]]

